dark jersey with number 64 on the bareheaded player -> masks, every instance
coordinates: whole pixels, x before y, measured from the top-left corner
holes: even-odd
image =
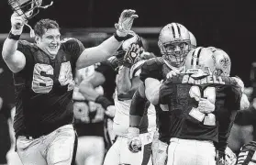
[[[83,49],[79,40],[65,38],[56,58],[51,60],[34,43],[18,42],[17,50],[25,55],[26,66],[14,73],[17,136],[41,136],[72,123],[73,77]]]

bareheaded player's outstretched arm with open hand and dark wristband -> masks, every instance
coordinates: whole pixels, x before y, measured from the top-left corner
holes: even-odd
[[[96,47],[84,49],[76,62],[76,69],[87,67],[111,57],[121,46],[122,41],[128,37],[133,20],[137,17],[135,10],[124,10],[119,17],[118,24],[115,25],[117,28],[116,34]]]

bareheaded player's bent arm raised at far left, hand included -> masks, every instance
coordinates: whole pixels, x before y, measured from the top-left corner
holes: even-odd
[[[18,39],[22,33],[25,19],[13,14],[11,17],[12,28],[8,38],[6,38],[2,50],[3,59],[13,72],[21,71],[26,65],[25,55],[17,50]]]

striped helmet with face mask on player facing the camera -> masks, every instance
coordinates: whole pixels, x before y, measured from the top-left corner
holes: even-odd
[[[164,60],[181,67],[191,46],[189,31],[181,24],[168,24],[161,29],[158,46]]]

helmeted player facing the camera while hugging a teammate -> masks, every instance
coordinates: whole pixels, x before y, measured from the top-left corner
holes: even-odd
[[[168,72],[184,70],[185,57],[192,49],[189,31],[178,23],[168,24],[161,29],[158,45],[161,49],[161,57],[147,60],[141,68],[140,79],[143,83],[139,84],[139,90],[134,94],[131,103],[131,110],[135,112],[144,107],[144,103],[147,102],[146,96],[153,103],[151,98],[158,91],[161,81],[166,79]],[[167,113],[158,109],[160,107],[156,106],[157,120],[167,117]],[[132,111],[130,113],[132,115]],[[134,121],[132,120],[131,117],[130,126],[133,126]],[[158,127],[160,137],[156,134],[152,143],[152,160],[155,165],[164,164],[167,158],[167,143],[169,143],[168,134],[164,133],[167,132],[168,127],[160,124]],[[130,131],[132,132],[132,130]]]

